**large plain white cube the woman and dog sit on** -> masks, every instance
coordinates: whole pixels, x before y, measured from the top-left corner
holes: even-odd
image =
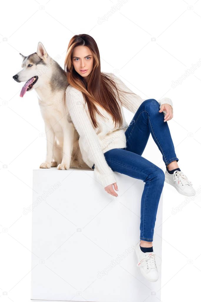
[[[135,255],[144,182],[114,173],[117,198],[91,169],[33,170],[32,300],[160,300],[161,278],[147,281]],[[162,195],[153,237],[159,274],[161,246]]]

